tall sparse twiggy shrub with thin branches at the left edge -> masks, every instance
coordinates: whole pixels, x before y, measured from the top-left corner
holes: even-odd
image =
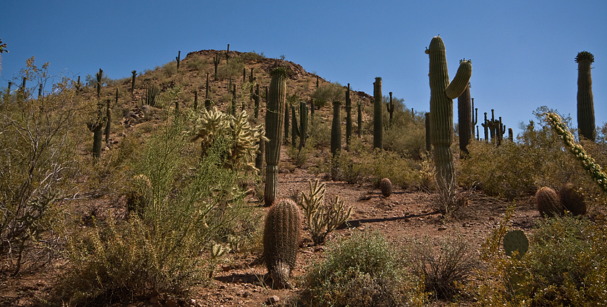
[[[50,227],[61,199],[74,192],[78,172],[76,133],[84,128],[86,108],[67,78],[53,85],[52,94],[32,98],[51,78],[48,65],[39,68],[29,58],[21,76],[36,85],[0,108],[0,251],[9,255],[14,274],[23,252]]]

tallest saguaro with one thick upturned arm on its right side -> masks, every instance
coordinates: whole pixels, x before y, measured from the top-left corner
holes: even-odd
[[[440,36],[434,36],[430,47],[426,49],[430,57],[430,120],[431,137],[434,147],[436,179],[439,186],[451,187],[455,184],[453,167],[453,99],[457,98],[468,86],[472,76],[471,61],[460,61],[453,81],[449,83],[445,43]]]

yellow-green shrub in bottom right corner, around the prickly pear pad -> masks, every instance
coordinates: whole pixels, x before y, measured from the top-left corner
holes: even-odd
[[[488,267],[477,288],[481,305],[491,306],[602,306],[607,299],[607,259],[604,219],[553,217],[538,222],[529,237],[529,249],[520,259],[498,249],[507,217],[486,240]],[[522,276],[518,285],[509,276]]]

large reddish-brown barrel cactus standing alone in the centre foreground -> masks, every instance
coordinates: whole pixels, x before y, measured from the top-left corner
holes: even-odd
[[[264,261],[276,288],[291,288],[289,276],[295,267],[301,211],[291,199],[277,199],[268,210],[264,227]]]

